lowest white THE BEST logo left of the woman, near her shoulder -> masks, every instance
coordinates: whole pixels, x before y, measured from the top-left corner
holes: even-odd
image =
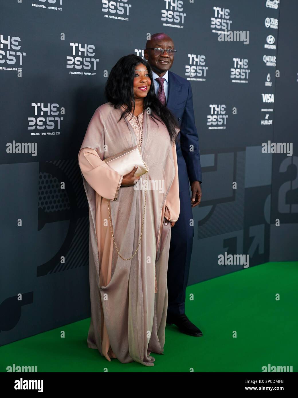
[[[34,116],[28,117],[28,130],[51,130],[42,132],[32,132],[31,135],[60,135],[61,121],[65,114],[65,109],[60,108],[58,103],[31,103]],[[55,131],[56,130],[56,131]]]

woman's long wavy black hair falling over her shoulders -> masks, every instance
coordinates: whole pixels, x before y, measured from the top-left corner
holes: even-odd
[[[143,64],[148,70],[151,79],[151,86],[146,97],[144,97],[144,109],[149,108],[151,112],[149,116],[152,119],[162,121],[167,127],[171,139],[171,144],[176,140],[177,121],[173,113],[164,105],[161,104],[155,95],[154,83],[152,78],[151,66],[135,54],[129,54],[120,58],[113,66],[110,76],[106,82],[104,94],[106,99],[118,109],[122,104],[126,105],[125,111],[122,112],[122,117],[128,116],[133,113],[135,109],[135,98],[133,94],[133,78],[135,76],[135,66]]]

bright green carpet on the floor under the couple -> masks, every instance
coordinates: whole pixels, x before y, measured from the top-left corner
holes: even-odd
[[[297,372],[297,281],[298,262],[286,262],[188,286],[186,314],[203,336],[186,336],[176,326],[167,326],[164,355],[152,353],[152,367],[108,362],[88,348],[87,318],[0,347],[0,371],[15,363],[37,365],[38,372],[261,372],[270,363]],[[60,338],[61,330],[65,338]]]

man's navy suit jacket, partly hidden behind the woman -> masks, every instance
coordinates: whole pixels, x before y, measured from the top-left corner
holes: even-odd
[[[202,182],[200,148],[196,126],[192,89],[188,80],[169,71],[169,92],[167,108],[178,120],[180,133],[176,140],[179,191],[189,190],[189,183]],[[193,151],[190,150],[193,145]],[[189,180],[189,183],[188,183]]]

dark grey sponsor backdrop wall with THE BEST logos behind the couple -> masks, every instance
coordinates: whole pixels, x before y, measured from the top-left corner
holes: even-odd
[[[78,149],[94,110],[106,102],[110,69],[123,55],[142,56],[148,33],[173,38],[172,71],[192,78],[203,200],[193,212],[189,284],[243,268],[219,265],[224,252],[249,254],[249,266],[297,259],[297,15],[290,0],[281,9],[266,0],[2,0],[0,345],[90,315],[88,207]],[[249,31],[249,44],[218,41],[212,30],[225,24]],[[267,37],[278,51],[264,47]],[[264,56],[277,56],[276,66]],[[93,59],[92,67],[67,68],[71,57],[81,57],[77,66]],[[239,67],[250,70],[240,79],[245,82],[232,81],[233,59],[247,60],[247,68]],[[190,66],[195,74],[186,76]],[[274,103],[264,103],[262,94],[274,94]],[[208,128],[210,104],[225,105],[226,125],[211,126],[225,129]],[[55,135],[31,135],[47,132]],[[293,156],[263,154],[268,140],[292,142]],[[13,141],[36,142],[37,156],[7,153]]]

